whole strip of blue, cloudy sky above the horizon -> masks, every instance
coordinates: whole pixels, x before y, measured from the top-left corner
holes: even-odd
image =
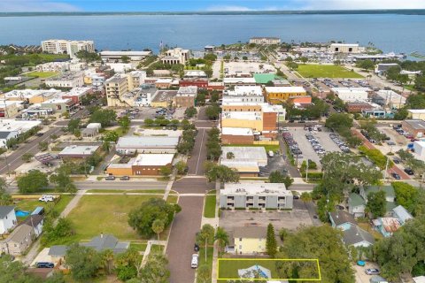
[[[425,9],[425,0],[0,0],[0,11],[278,11]]]

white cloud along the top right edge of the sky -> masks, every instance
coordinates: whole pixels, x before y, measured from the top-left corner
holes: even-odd
[[[424,9],[423,0],[297,0],[305,10]]]

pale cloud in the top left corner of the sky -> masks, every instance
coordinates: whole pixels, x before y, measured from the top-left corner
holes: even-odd
[[[81,11],[77,6],[49,0],[0,0],[0,11]]]

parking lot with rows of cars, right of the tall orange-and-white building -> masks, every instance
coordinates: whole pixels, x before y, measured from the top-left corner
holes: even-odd
[[[304,127],[290,127],[289,133],[292,135],[294,141],[298,142],[298,149],[302,152],[298,155],[298,164],[301,164],[304,160],[306,161],[307,159],[310,159],[317,164],[317,168],[320,170],[322,155],[331,151],[341,151],[336,142],[333,142],[330,139],[330,132],[328,132],[325,128],[323,128],[321,132],[310,132],[305,130]],[[316,142],[310,142],[305,134],[313,136],[313,141]],[[314,148],[317,150],[318,147],[319,150],[322,149],[321,151],[318,151],[319,154],[314,150]],[[294,157],[297,158],[296,156]]]

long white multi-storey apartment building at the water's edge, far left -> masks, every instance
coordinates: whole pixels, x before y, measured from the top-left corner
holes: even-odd
[[[67,41],[59,39],[50,39],[42,41],[42,52],[51,54],[68,54],[70,57],[76,57],[76,54],[86,50],[95,52],[95,42],[93,41]]]

